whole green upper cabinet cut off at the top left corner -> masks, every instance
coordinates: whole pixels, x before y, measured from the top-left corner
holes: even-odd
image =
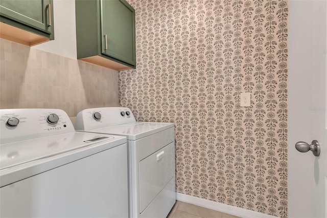
[[[53,0],[0,0],[0,37],[29,46],[54,39]]]

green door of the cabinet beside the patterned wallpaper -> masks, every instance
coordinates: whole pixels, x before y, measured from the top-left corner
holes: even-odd
[[[135,10],[124,0],[101,0],[102,54],[135,66]]]

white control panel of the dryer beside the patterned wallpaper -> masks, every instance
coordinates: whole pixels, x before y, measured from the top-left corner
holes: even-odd
[[[75,129],[90,130],[131,122],[136,122],[136,120],[127,107],[89,108],[77,114]]]

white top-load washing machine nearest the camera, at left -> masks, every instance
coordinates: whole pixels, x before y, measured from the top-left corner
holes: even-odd
[[[0,110],[0,217],[128,217],[126,137],[57,109]]]

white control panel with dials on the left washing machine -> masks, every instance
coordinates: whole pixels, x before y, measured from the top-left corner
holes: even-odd
[[[0,143],[74,132],[68,115],[59,109],[0,110]]]

